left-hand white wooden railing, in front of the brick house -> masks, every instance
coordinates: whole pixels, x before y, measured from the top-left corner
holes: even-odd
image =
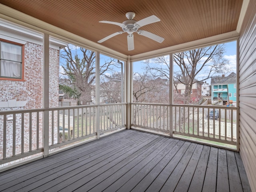
[[[45,111],[49,112],[48,125],[44,125]],[[43,155],[45,127],[49,130],[47,141],[52,151],[125,128],[125,111],[125,103],[2,111],[0,165]]]

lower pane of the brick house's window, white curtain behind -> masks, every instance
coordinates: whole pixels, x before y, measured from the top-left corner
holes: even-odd
[[[21,78],[21,63],[1,60],[1,74],[2,77]]]

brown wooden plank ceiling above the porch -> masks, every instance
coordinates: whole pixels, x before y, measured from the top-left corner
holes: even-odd
[[[102,20],[122,23],[126,12],[134,20],[151,15],[160,22],[142,26],[165,40],[158,43],[134,34],[132,51],[127,33],[106,40],[102,45],[126,55],[136,55],[236,30],[242,0],[0,0],[1,4],[93,42],[122,29]]]

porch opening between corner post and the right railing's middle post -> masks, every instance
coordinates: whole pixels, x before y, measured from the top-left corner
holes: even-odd
[[[133,63],[133,102],[169,103],[170,56]]]

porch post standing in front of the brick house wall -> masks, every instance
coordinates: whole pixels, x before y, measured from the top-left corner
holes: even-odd
[[[43,36],[43,148],[44,157],[49,156],[49,35]]]

